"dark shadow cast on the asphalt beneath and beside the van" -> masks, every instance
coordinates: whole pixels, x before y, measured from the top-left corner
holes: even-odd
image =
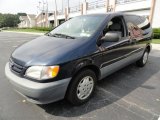
[[[40,105],[40,107],[54,116],[75,117],[106,107],[138,87],[155,89],[143,83],[160,71],[160,60],[158,59],[160,58],[150,56],[144,68],[138,68],[132,64],[99,81],[94,96],[84,105],[72,106],[66,100],[62,100]]]

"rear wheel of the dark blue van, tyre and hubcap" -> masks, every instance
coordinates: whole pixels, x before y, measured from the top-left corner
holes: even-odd
[[[143,56],[136,62],[138,67],[144,67],[148,61],[149,50],[146,49],[143,53]]]

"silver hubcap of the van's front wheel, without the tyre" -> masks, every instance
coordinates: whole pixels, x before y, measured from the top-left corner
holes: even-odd
[[[77,97],[80,100],[84,100],[89,97],[94,87],[94,81],[91,76],[84,77],[78,84]]]

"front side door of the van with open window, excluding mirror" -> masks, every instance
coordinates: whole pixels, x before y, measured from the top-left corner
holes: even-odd
[[[128,64],[127,57],[133,51],[123,16],[113,17],[103,30],[103,35],[107,32],[119,32],[121,33],[121,39],[117,42],[106,41],[100,46],[103,55],[102,78]]]

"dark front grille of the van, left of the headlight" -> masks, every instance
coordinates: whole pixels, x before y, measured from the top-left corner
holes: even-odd
[[[21,75],[24,71],[24,68],[23,66],[15,63],[13,60],[9,60],[9,66],[10,66],[10,69],[11,71],[13,71],[14,73],[18,74],[18,75]]]

